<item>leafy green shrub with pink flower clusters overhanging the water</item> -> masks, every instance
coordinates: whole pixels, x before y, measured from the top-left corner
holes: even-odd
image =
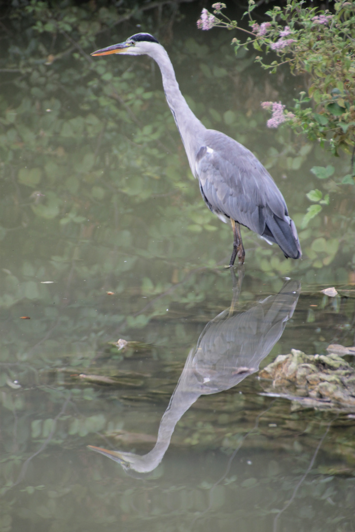
[[[265,62],[262,56],[255,60],[263,68],[275,73],[282,64],[288,64],[294,74],[309,77],[309,97],[295,100],[291,115],[285,120],[296,130],[305,132],[311,140],[322,144],[327,139],[334,154],[340,147],[353,150],[355,142],[355,14],[352,2],[335,2],[334,13],[306,6],[305,2],[288,0],[284,9],[274,6],[267,11],[271,19],[259,25],[252,19],[257,4],[249,0],[244,15],[249,17],[250,30],[237,21],[229,20],[222,9],[225,4],[213,4],[214,15],[209,16],[209,27],[220,26],[242,30],[247,34],[245,43],[234,38],[236,51],[252,45],[255,50],[274,52],[277,59]],[[209,29],[204,27],[203,29]],[[304,106],[313,102],[315,109]],[[273,127],[273,126],[270,126]]]

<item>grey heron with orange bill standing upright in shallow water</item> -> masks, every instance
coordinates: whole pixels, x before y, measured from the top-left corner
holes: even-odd
[[[166,49],[150,34],[138,33],[91,55],[149,55],[158,63],[164,93],[202,197],[210,211],[233,229],[233,253],[244,262],[240,225],[280,246],[286,258],[299,259],[301,246],[283,195],[269,172],[249,149],[220,131],[207,129],[181,94]]]

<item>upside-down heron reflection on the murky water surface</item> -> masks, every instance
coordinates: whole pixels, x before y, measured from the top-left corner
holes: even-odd
[[[251,309],[235,314],[227,309],[207,323],[189,352],[150,452],[139,455],[92,445],[89,448],[119,462],[126,471],[153,471],[169,447],[176,423],[200,395],[228,390],[258,371],[292,317],[299,295],[299,282],[286,281],[277,295]]]

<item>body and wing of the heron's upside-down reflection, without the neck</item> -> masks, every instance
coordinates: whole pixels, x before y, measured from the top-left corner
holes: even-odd
[[[210,391],[202,393],[235,386],[258,370],[292,317],[299,295],[299,282],[287,281],[276,296],[232,317],[224,311],[207,324],[191,360],[195,375],[209,379]]]

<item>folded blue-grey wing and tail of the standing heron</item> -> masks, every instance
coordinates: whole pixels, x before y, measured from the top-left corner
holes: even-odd
[[[219,131],[208,130],[196,156],[195,173],[209,209],[277,243],[286,256],[301,248],[283,195],[249,149]]]

